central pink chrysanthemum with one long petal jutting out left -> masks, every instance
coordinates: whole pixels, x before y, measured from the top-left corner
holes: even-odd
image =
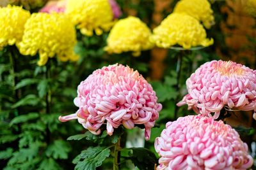
[[[147,80],[121,64],[97,69],[80,83],[77,93],[74,103],[79,110],[59,120],[78,119],[93,134],[100,134],[102,124],[107,124],[109,135],[121,124],[127,129],[143,124],[148,140],[162,108]]]

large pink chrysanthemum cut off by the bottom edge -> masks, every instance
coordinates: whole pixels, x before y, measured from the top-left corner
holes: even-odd
[[[253,164],[234,129],[203,115],[168,122],[155,149],[160,156],[157,169],[247,169]]]

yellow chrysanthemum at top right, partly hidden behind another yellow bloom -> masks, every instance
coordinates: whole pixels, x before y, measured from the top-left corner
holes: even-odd
[[[181,0],[176,4],[174,13],[186,13],[202,22],[207,29],[214,24],[211,4],[207,0]]]

